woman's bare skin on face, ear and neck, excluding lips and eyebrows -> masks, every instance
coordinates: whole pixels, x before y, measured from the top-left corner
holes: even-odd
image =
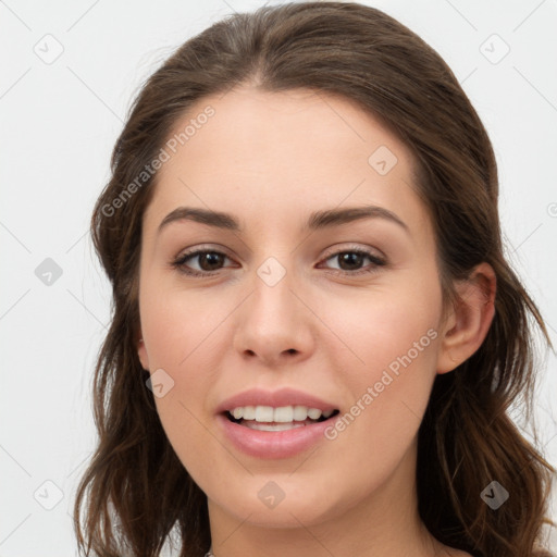
[[[157,409],[208,496],[214,555],[468,556],[420,520],[417,433],[436,374],[487,333],[493,270],[479,265],[457,285],[463,302],[444,312],[412,156],[349,101],[245,86],[202,99],[176,129],[208,104],[214,116],[164,163],[144,215],[138,354],[174,381]],[[397,159],[384,174],[369,162],[380,146]],[[404,225],[375,214],[305,230],[313,211],[363,206]],[[176,220],[159,232],[178,207],[231,213],[242,227]],[[223,256],[172,264],[193,248]],[[371,259],[338,256],[355,248]],[[258,274],[268,258],[285,273],[273,286]],[[219,426],[218,405],[250,387],[294,387],[349,411],[403,355],[411,363],[349,426],[294,456],[255,458]],[[274,508],[258,496],[269,482],[284,493]]]

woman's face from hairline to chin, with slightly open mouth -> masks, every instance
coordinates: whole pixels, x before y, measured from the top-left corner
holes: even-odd
[[[139,277],[139,357],[178,458],[210,509],[258,524],[405,500],[447,371],[410,152],[304,90],[208,97],[176,133],[188,124],[144,216]]]

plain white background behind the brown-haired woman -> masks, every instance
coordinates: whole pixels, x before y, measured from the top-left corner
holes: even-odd
[[[497,154],[508,256],[557,343],[557,2],[362,3],[432,45],[469,95]],[[187,38],[262,4],[0,1],[0,557],[76,554],[70,515],[110,315],[88,223],[134,94]],[[539,445],[555,466],[556,358],[542,363]]]

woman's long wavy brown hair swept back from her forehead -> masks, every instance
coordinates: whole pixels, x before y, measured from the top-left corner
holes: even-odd
[[[94,377],[99,444],[74,507],[79,550],[154,557],[177,535],[180,555],[199,557],[211,543],[207,498],[164,434],[146,387],[149,373],[137,356],[141,218],[157,180],[157,172],[145,172],[194,103],[247,83],[264,91],[343,96],[405,141],[418,163],[414,186],[435,227],[447,300],[456,301],[454,281],[478,263],[495,270],[496,311],[487,336],[469,360],[437,375],[420,426],[419,511],[449,546],[485,557],[537,555],[555,470],[508,409],[521,403],[530,417],[533,327],[550,342],[503,253],[492,145],[442,58],[396,20],[351,2],[288,3],[231,15],[180,47],[129,111],[91,221],[113,288],[113,314]],[[492,481],[510,493],[497,510],[481,497]]]

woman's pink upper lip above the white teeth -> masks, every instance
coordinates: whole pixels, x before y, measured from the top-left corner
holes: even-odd
[[[281,406],[307,406],[308,408],[318,408],[321,411],[338,409],[333,404],[295,388],[280,388],[277,391],[250,388],[223,400],[216,407],[216,413],[242,406],[272,406],[274,408]]]

